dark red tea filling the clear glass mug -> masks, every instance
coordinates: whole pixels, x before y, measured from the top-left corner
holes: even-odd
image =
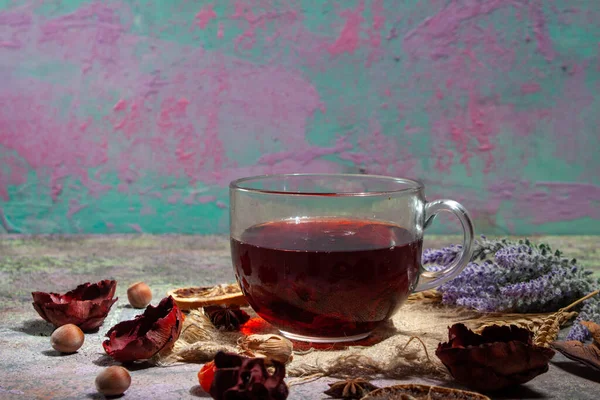
[[[231,253],[252,308],[275,327],[312,337],[372,331],[416,284],[422,240],[396,225],[299,219],[255,225]]]

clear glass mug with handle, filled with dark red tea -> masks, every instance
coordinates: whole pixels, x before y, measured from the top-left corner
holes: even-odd
[[[374,175],[289,174],[231,182],[235,277],[256,313],[294,340],[355,341],[409,294],[456,277],[473,225],[453,200],[427,202],[418,181]],[[421,265],[423,230],[449,211],[462,252],[440,271]]]

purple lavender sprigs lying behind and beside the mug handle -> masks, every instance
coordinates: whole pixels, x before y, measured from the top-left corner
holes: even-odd
[[[461,246],[425,250],[423,264],[439,270],[456,259]],[[471,262],[453,280],[440,286],[445,304],[482,312],[549,312],[564,307],[600,286],[590,271],[546,244],[489,240],[475,242]],[[585,311],[585,312],[584,312]],[[589,336],[579,320],[600,323],[600,302],[584,303],[584,318],[578,318],[569,335]]]

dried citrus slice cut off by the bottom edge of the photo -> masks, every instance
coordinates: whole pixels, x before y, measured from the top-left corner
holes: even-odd
[[[490,400],[489,397],[466,390],[441,386],[405,384],[373,390],[362,400]]]

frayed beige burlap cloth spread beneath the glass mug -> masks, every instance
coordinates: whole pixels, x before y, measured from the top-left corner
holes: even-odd
[[[252,312],[249,310],[251,315]],[[463,322],[467,326],[481,314],[444,306],[439,298],[411,297],[384,326],[359,342],[320,345],[294,342],[294,355],[287,365],[290,377],[301,379],[322,376],[440,378],[446,369],[435,356],[440,342],[448,339],[448,326]],[[243,335],[279,333],[260,318],[252,318],[241,332],[216,331],[205,321],[187,318],[174,348],[161,354],[159,365],[175,362],[210,361],[217,351],[236,351]],[[477,324],[475,324],[477,325]]]

